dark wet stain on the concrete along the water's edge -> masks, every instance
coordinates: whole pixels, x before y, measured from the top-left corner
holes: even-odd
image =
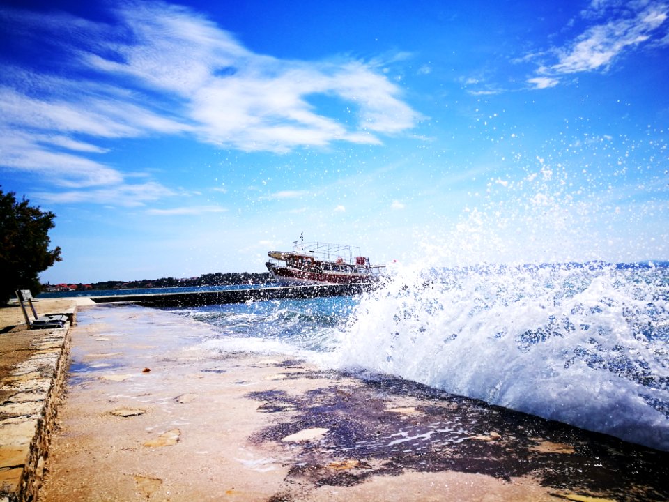
[[[405,471],[457,471],[502,480],[532,475],[545,487],[617,501],[669,499],[669,452],[411,381],[367,375],[359,386],[325,386],[298,397],[278,390],[247,397],[262,403],[259,411],[277,413],[273,425],[249,438],[252,443],[298,444],[286,478],[293,485],[352,486]],[[413,409],[390,411],[406,397],[417,400]],[[313,427],[328,432],[318,441],[282,442]],[[351,466],[332,467],[343,459]],[[295,492],[275,500],[292,500],[281,498],[289,495]]]

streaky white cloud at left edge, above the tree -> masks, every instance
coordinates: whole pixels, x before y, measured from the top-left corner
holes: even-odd
[[[132,102],[94,97],[92,94],[97,92],[86,98],[84,89],[83,97],[69,96],[73,82],[42,79],[35,74],[23,78],[30,75],[32,86],[43,98],[0,86],[0,166],[33,172],[52,185],[86,188],[123,183],[124,176],[117,169],[84,156],[108,151],[95,144],[96,138],[187,130],[187,126]],[[49,98],[49,89],[54,85],[69,100]]]

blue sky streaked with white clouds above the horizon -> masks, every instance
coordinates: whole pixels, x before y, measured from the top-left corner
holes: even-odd
[[[302,3],[302,5],[300,5]],[[50,282],[669,259],[661,1],[3,1],[0,184]]]

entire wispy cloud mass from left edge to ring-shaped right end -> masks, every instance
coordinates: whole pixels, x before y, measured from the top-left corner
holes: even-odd
[[[123,2],[110,14],[116,21],[107,24],[0,8],[3,31],[51,61],[0,65],[0,131],[10,132],[0,138],[0,166],[92,190],[61,199],[95,201],[90,195],[100,188],[137,191],[141,185],[104,162],[118,139],[185,135],[225,149],[284,153],[378,144],[421,119],[374,62],[256,54],[203,15],[168,3]],[[353,114],[323,114],[307,100],[317,94],[345,100]]]

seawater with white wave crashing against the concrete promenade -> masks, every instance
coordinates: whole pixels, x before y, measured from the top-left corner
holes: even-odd
[[[669,267],[410,268],[355,298],[209,305],[211,351],[281,351],[669,450]]]

